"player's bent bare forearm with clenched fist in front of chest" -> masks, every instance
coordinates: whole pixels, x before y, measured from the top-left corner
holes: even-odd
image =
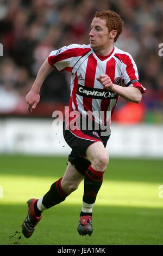
[[[115,92],[124,99],[129,100],[130,102],[140,103],[142,98],[141,91],[136,87],[122,87],[120,85],[113,84],[108,75],[100,75],[97,80],[101,82],[104,86],[104,89]]]

